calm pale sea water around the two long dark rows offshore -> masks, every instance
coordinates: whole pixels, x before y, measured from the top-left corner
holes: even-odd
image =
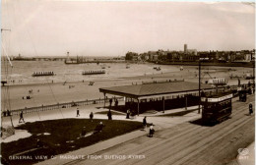
[[[62,61],[13,61],[13,68],[9,68],[9,82],[18,83],[60,83],[60,82],[77,82],[77,81],[96,81],[106,79],[117,79],[123,77],[143,76],[149,74],[159,74],[165,72],[177,72],[179,66],[160,66],[161,70],[156,71],[154,64],[129,64],[130,68],[126,69],[124,63],[99,64],[79,64],[65,65]],[[83,71],[102,70],[105,67],[106,74],[83,76]],[[1,66],[2,80],[5,80],[5,67]],[[33,72],[53,71],[56,76],[53,77],[32,77]],[[21,82],[22,81],[22,82]],[[13,84],[13,83],[11,83]]]

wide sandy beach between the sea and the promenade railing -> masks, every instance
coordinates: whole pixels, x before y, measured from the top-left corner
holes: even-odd
[[[209,67],[208,67],[209,68]],[[228,71],[229,68],[215,68],[212,67],[209,71],[202,70],[202,83],[211,78],[225,78],[229,84],[237,84],[237,79],[229,80],[229,76],[244,76],[245,73],[252,72],[250,68],[235,68]],[[232,68],[233,69],[233,68]],[[206,72],[209,72],[207,74]],[[72,82],[72,83],[34,83],[34,84],[19,84],[10,85],[10,101],[11,109],[20,109],[25,107],[34,107],[41,105],[51,105],[57,103],[65,103],[72,101],[83,101],[87,99],[103,99],[103,93],[99,92],[100,87],[109,87],[117,85],[131,85],[141,84],[142,82],[160,81],[165,82],[168,80],[183,80],[186,82],[198,83],[198,70],[197,67],[184,67],[183,71],[159,73],[151,75],[143,75],[139,77],[118,78],[96,81],[94,85],[89,85],[89,82]],[[247,83],[247,80],[241,79],[241,83]],[[2,109],[4,109],[5,101],[5,87],[1,88],[2,93]],[[29,93],[32,90],[32,93]],[[32,99],[26,99],[30,95]],[[110,96],[110,95],[109,95]],[[25,99],[23,99],[25,97]]]

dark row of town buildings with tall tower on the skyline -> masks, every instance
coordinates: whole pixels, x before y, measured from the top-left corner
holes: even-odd
[[[197,49],[188,49],[184,44],[183,51],[157,50],[144,53],[128,52],[125,60],[127,61],[149,61],[149,62],[195,62],[204,58],[206,62],[211,63],[250,63],[255,60],[255,49],[240,51],[197,51]]]

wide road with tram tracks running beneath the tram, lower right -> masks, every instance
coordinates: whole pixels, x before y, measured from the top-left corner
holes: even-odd
[[[67,164],[226,164],[235,159],[238,148],[254,141],[255,117],[247,115],[249,102],[254,104],[254,96],[246,103],[234,102],[231,119],[214,127],[186,122],[158,131],[154,138],[134,138]]]

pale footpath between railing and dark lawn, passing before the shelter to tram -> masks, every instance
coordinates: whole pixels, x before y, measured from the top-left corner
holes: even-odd
[[[192,106],[188,107],[187,110],[191,109],[197,109],[198,106]],[[80,119],[89,119],[90,113],[94,113],[94,118],[95,119],[106,119],[107,116],[104,114],[96,114],[96,112],[101,112],[101,111],[108,111],[107,108],[103,108],[103,103],[100,104],[91,104],[91,105],[85,105],[85,106],[79,106],[80,109],[80,116],[76,117],[77,115],[77,107],[71,107],[71,108],[60,108],[56,110],[48,110],[48,111],[41,111],[41,112],[33,112],[30,114],[24,114],[24,119],[25,122],[35,122],[35,121],[44,121],[44,120],[55,120],[55,119],[65,119],[65,118],[80,118]],[[114,110],[111,110],[112,112]],[[140,114],[140,116],[136,116],[133,119],[126,119],[126,114],[123,113],[123,115],[113,115],[112,119],[113,120],[125,120],[125,121],[138,121],[142,122],[143,118],[147,116],[147,122],[148,123],[154,123],[156,127],[160,128],[168,128],[170,126],[173,126],[175,124],[182,123],[183,121],[189,120],[194,117],[199,117],[200,115],[197,114],[196,112],[189,113],[185,116],[182,117],[173,117],[172,120],[169,120],[169,117],[161,117],[161,118],[156,118],[155,116],[160,116],[160,115],[166,115],[166,114],[171,114],[171,113],[176,113],[176,112],[181,112],[185,111],[185,108],[178,108],[178,109],[173,109],[173,110],[165,110],[164,113],[158,112],[158,113],[145,113],[145,114]],[[118,112],[118,111],[116,111]],[[121,113],[121,112],[118,112]],[[19,125],[22,125],[23,123],[19,124],[19,119],[20,117],[17,116],[12,116],[12,121],[14,127],[17,127]],[[2,118],[2,126],[11,126],[11,119],[10,117],[3,117]],[[157,129],[156,128],[156,129]]]

